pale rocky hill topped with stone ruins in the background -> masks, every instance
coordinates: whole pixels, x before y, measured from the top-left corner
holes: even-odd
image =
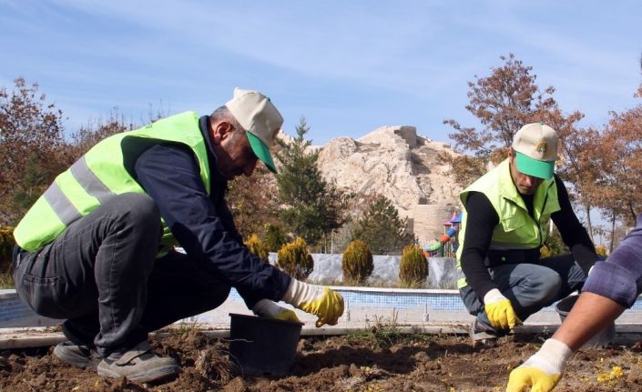
[[[446,175],[440,153],[457,154],[447,144],[418,136],[414,126],[382,126],[356,140],[332,139],[321,147],[319,166],[342,188],[388,197],[428,244],[460,209],[461,187]]]

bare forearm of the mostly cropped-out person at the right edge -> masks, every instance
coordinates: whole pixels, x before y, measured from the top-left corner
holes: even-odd
[[[610,298],[594,293],[582,293],[564,323],[555,331],[553,338],[576,351],[612,323],[624,310],[625,307]]]

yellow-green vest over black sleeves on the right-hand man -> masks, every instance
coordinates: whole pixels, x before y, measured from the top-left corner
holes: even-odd
[[[539,248],[548,236],[546,226],[550,221],[551,214],[560,210],[555,178],[551,178],[537,187],[533,196],[535,217],[530,216],[524,199],[519,195],[513,183],[508,159],[462,191],[459,197],[464,206],[471,192],[483,193],[499,216],[499,224],[494,227],[491,238],[489,248],[491,250]],[[457,248],[457,269],[459,270],[461,270],[461,257],[464,250],[467,216],[464,208],[462,225],[459,230],[460,246]],[[464,277],[457,281],[458,288],[463,286],[466,286]]]

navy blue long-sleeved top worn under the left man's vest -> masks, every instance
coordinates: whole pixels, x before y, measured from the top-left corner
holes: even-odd
[[[149,147],[138,156],[135,176],[190,257],[235,287],[249,308],[262,298],[278,301],[290,285],[290,276],[251,255],[243,245],[225,203],[227,180],[217,169],[208,123],[209,116],[200,118],[208,145],[210,196],[188,146],[165,143]]]

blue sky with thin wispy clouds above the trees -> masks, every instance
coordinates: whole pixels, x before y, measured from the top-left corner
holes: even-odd
[[[315,145],[379,126],[448,141],[478,126],[467,82],[514,53],[568,113],[602,126],[639,104],[642,2],[0,0],[0,86],[37,82],[75,131],[116,106],[209,114],[235,86],[270,95]]]

